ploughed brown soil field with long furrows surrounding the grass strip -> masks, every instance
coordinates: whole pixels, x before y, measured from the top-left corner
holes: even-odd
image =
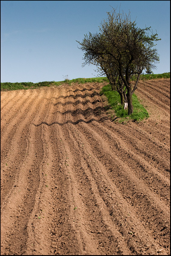
[[[170,254],[169,83],[139,82],[139,123],[104,84],[1,92],[1,255]]]

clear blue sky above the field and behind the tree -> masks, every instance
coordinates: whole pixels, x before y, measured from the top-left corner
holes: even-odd
[[[1,82],[94,77],[95,66],[82,67],[76,40],[96,33],[111,6],[130,10],[138,27],[157,30],[153,72],[170,72],[170,1],[1,1]]]

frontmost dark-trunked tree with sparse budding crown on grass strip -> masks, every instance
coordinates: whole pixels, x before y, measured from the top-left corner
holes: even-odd
[[[158,41],[157,33],[151,27],[144,29],[136,27],[131,22],[129,14],[119,13],[113,8],[107,12],[107,20],[103,20],[99,33],[85,35],[82,42],[77,41],[84,51],[84,63],[97,64],[108,77],[118,77],[126,87],[128,101],[128,115],[133,113],[132,94],[137,89],[139,77],[144,69],[156,68],[159,62],[157,49],[153,48],[154,41]],[[151,33],[151,35],[149,35]],[[112,67],[109,69],[109,67]],[[108,71],[111,72],[108,72]],[[136,76],[132,88],[131,76]],[[116,80],[118,81],[118,80]]]

